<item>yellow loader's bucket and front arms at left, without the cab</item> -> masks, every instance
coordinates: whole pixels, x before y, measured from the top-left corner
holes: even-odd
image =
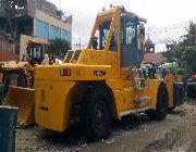
[[[27,88],[26,79],[28,76],[25,71],[25,65],[1,67],[0,74],[3,75],[3,80],[0,87],[0,94],[1,104],[19,107],[19,123],[21,125],[30,125],[35,123],[35,91],[34,89]],[[7,97],[5,102],[2,100],[4,97]]]

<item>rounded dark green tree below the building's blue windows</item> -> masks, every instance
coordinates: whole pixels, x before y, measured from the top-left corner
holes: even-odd
[[[71,49],[70,42],[62,38],[49,40],[49,46],[48,46],[49,54],[57,55],[59,58],[64,58],[69,49]]]

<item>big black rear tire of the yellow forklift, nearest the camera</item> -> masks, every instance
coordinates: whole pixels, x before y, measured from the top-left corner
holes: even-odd
[[[97,141],[110,134],[110,96],[103,88],[88,88],[85,91],[81,112],[82,131],[86,140]]]

